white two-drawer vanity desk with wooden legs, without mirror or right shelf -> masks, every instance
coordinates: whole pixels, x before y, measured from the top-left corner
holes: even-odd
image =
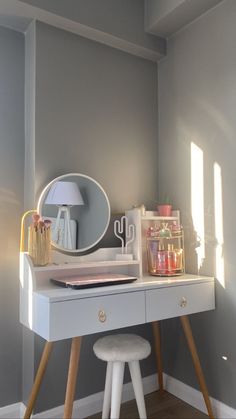
[[[64,418],[71,417],[79,362],[81,336],[152,322],[159,387],[163,388],[159,320],[180,317],[195,370],[213,417],[201,365],[192,337],[188,314],[215,307],[214,279],[195,275],[175,278],[139,276],[140,261],[116,261],[117,249],[100,249],[87,256],[53,252],[53,264],[34,267],[27,253],[21,254],[20,321],[46,340],[25,418],[29,418],[39,391],[54,341],[73,338]],[[76,262],[74,262],[76,260]],[[130,284],[71,290],[50,283],[51,277],[101,272],[136,275]]]

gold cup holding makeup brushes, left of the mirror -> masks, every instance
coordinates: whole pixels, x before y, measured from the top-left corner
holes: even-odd
[[[28,230],[28,252],[35,266],[45,266],[51,259],[51,228],[35,228]]]

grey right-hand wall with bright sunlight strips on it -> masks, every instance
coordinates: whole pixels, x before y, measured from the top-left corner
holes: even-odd
[[[168,43],[159,65],[159,190],[180,208],[186,232],[187,270],[196,273],[191,219],[191,142],[203,152],[206,257],[200,273],[217,275],[214,176],[221,167],[225,288],[216,280],[216,310],[192,317],[211,396],[236,408],[235,156],[236,2],[228,0]],[[201,168],[199,171],[199,178]],[[219,182],[218,182],[219,185]],[[195,195],[199,196],[198,187]],[[219,210],[219,203],[217,210]],[[216,211],[217,213],[217,211]],[[219,258],[217,258],[219,261]],[[177,321],[165,325],[165,370],[197,387]],[[177,343],[177,346],[176,346]],[[168,355],[167,355],[168,354]],[[227,361],[222,356],[228,358]]]

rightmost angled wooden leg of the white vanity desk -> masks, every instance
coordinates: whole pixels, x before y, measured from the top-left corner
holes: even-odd
[[[213,415],[213,411],[212,411],[212,407],[211,407],[211,401],[209,398],[209,394],[208,394],[208,390],[207,390],[207,386],[206,386],[206,382],[205,382],[205,378],[203,375],[203,371],[202,371],[202,367],[200,364],[200,360],[198,357],[198,353],[197,353],[197,348],[194,342],[194,338],[193,338],[193,334],[192,334],[192,329],[189,323],[189,319],[188,316],[181,316],[180,317],[182,326],[183,326],[183,330],[185,333],[185,337],[187,339],[188,342],[188,347],[192,356],[192,360],[193,360],[193,365],[195,368],[195,372],[199,381],[199,385],[201,388],[201,392],[202,395],[204,397],[205,400],[205,404],[206,404],[206,408],[208,411],[208,416],[211,419],[214,419],[214,415]]]

